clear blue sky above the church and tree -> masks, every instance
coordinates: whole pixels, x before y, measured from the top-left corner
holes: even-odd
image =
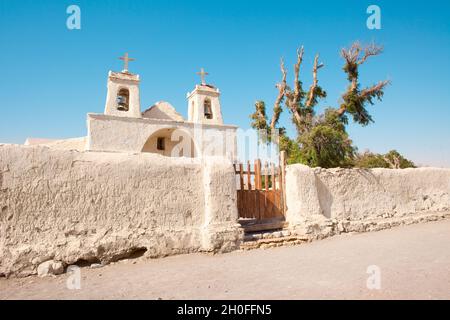
[[[66,28],[66,8],[81,8],[82,29]],[[366,28],[366,9],[382,10],[382,29]],[[255,100],[268,106],[296,47],[311,81],[316,52],[320,83],[336,106],[347,85],[339,50],[376,41],[385,53],[361,69],[363,84],[392,80],[374,124],[349,132],[360,150],[398,149],[419,164],[450,166],[450,1],[35,1],[0,0],[0,141],[86,134],[86,113],[103,112],[109,70],[124,52],[137,59],[142,109],[159,100],[186,115],[186,92],[204,67],[222,92],[227,123],[249,127]],[[282,121],[289,121],[287,112]]]

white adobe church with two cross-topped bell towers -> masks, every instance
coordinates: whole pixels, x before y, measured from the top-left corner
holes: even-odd
[[[222,156],[236,159],[237,126],[224,125],[220,91],[205,82],[187,94],[188,119],[168,102],[157,102],[141,112],[140,77],[128,70],[125,54],[121,72],[110,71],[103,114],[87,114],[87,136],[65,140],[29,138],[26,145],[100,152],[151,152],[172,157]]]

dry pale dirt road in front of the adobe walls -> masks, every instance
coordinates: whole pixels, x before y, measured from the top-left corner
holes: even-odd
[[[369,290],[367,267],[381,270]],[[56,278],[0,279],[0,299],[450,299],[450,220],[268,250],[127,260]]]

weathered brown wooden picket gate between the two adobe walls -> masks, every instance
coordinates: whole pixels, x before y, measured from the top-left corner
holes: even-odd
[[[239,219],[249,231],[282,227],[285,205],[285,156],[280,165],[257,159],[234,165],[237,182]]]

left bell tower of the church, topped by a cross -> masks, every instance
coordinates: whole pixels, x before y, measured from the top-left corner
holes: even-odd
[[[128,71],[128,62],[134,59],[129,58],[128,53],[119,59],[124,61],[124,69],[121,72],[110,71],[108,74],[105,114],[141,118],[139,75]]]

